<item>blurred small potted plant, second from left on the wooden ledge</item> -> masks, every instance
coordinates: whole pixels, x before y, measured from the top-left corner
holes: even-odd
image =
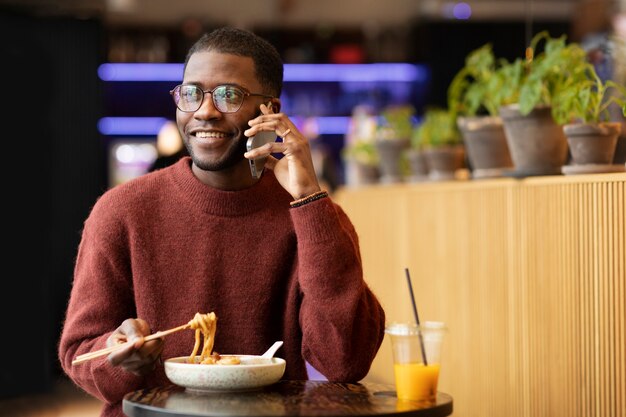
[[[413,106],[394,105],[385,108],[379,116],[374,144],[382,183],[400,182],[405,177],[404,153],[410,147],[414,115]]]

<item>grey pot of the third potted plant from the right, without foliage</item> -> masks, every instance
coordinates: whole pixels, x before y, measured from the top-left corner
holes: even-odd
[[[500,117],[459,117],[457,125],[463,136],[473,178],[501,177],[513,169]]]

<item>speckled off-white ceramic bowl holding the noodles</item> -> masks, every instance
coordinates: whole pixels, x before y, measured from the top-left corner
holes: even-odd
[[[174,384],[192,391],[246,391],[278,382],[285,373],[286,362],[281,358],[261,358],[255,355],[237,356],[238,365],[203,365],[188,363],[188,356],[167,359],[165,375]]]

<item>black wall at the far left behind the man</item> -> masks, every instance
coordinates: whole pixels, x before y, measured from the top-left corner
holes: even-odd
[[[106,187],[102,27],[0,11],[5,263],[0,396],[44,392],[82,223]]]

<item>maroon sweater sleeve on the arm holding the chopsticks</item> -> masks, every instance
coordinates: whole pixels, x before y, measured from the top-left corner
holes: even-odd
[[[135,317],[126,232],[110,207],[97,203],[85,222],[74,269],[74,282],[58,346],[64,372],[83,390],[106,403],[142,385],[143,378],[111,366],[106,357],[77,365],[83,353],[106,347],[123,320]],[[127,249],[126,249],[127,250]]]

